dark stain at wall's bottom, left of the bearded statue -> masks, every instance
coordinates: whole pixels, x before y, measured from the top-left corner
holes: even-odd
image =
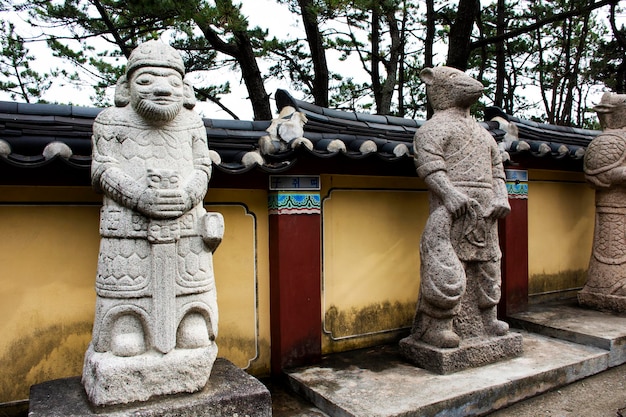
[[[28,398],[30,386],[80,375],[90,322],[55,324],[15,340],[0,357],[0,402]]]

